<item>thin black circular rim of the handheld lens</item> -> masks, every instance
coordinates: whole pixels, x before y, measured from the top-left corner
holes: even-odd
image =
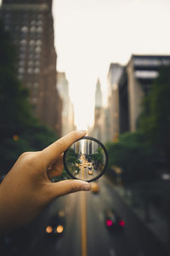
[[[92,178],[92,179],[90,179],[90,180],[82,179],[82,178],[79,178],[79,177],[75,177],[75,176],[69,171],[69,169],[68,169],[68,167],[67,167],[67,165],[66,165],[66,160],[65,160],[67,151],[68,151],[69,148],[71,148],[71,147],[69,147],[69,148],[68,148],[67,150],[65,150],[65,152],[64,152],[64,155],[63,155],[63,164],[64,164],[64,166],[65,166],[65,171],[68,173],[68,175],[69,175],[70,177],[72,177],[72,178],[74,178],[74,179],[79,179],[79,180],[83,180],[83,181],[86,181],[86,182],[88,182],[88,183],[91,183],[91,182],[93,182],[94,180],[96,180],[96,179],[98,179],[99,177],[101,177],[101,176],[105,173],[105,171],[106,171],[106,169],[107,169],[107,166],[108,166],[109,157],[108,157],[108,153],[107,153],[107,150],[106,150],[104,144],[101,143],[98,139],[96,139],[96,138],[94,138],[94,137],[88,137],[88,136],[81,137],[80,139],[78,139],[78,140],[77,140],[76,142],[74,142],[74,143],[77,143],[78,141],[81,141],[82,139],[92,140],[92,141],[94,141],[95,143],[98,143],[99,146],[101,146],[101,148],[104,150],[104,153],[105,153],[105,166],[104,166],[103,171],[100,172],[98,176],[96,176],[96,177],[94,177],[94,178]],[[72,143],[71,146],[72,146],[74,143]]]

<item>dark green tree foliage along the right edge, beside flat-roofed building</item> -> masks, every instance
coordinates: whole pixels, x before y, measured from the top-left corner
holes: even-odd
[[[170,67],[163,67],[144,98],[139,128],[157,150],[164,152],[170,168]]]

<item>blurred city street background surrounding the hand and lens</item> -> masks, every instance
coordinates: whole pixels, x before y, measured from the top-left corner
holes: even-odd
[[[21,153],[72,130],[109,154],[90,192],[1,237],[1,255],[170,255],[169,9],[168,0],[0,1],[1,182]]]

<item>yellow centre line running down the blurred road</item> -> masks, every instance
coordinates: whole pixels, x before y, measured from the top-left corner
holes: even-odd
[[[87,256],[87,212],[86,212],[86,192],[81,192],[82,208],[82,256]]]

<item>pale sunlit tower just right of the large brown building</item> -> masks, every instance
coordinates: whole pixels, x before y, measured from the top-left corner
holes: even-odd
[[[62,136],[76,130],[74,124],[74,108],[69,96],[69,83],[64,72],[57,72],[57,89],[62,99]]]

